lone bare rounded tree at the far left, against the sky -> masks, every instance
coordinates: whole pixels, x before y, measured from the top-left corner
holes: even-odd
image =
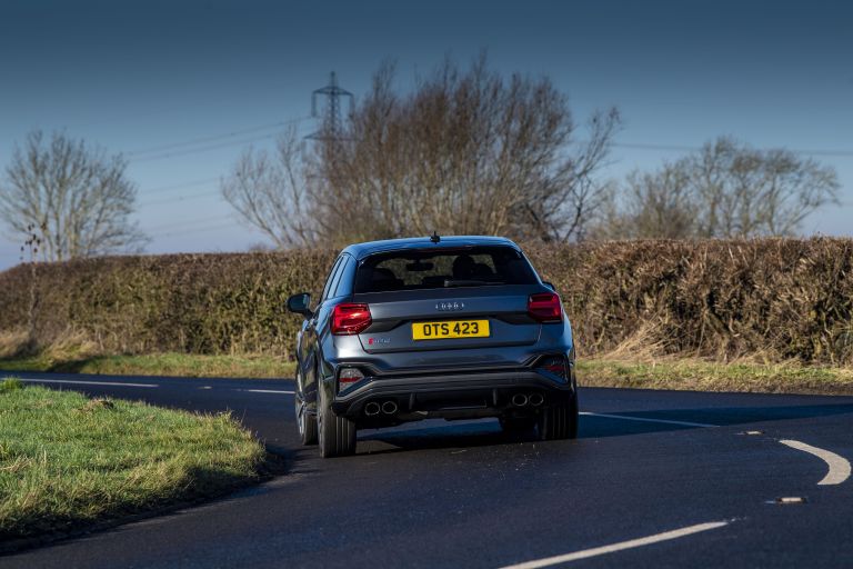
[[[129,219],[137,190],[126,167],[82,140],[34,131],[6,169],[0,219],[18,233],[36,228],[44,260],[140,250],[147,238]]]

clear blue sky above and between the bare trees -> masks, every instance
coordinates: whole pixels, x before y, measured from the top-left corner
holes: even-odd
[[[614,179],[683,154],[633,144],[730,134],[830,151],[814,158],[837,170],[843,203],[804,231],[851,234],[847,2],[2,0],[0,167],[30,130],[64,130],[129,153],[148,252],[245,250],[264,238],[237,220],[218,179],[248,144],[271,146],[274,124],[313,131],[311,91],[330,71],[358,97],[383,60],[404,89],[445,54],[468,63],[482,50],[502,72],[551,77],[579,121],[615,104]],[[0,238],[0,269],[19,247]]]

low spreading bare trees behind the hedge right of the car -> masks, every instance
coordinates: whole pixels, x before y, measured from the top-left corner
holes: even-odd
[[[624,190],[596,237],[791,236],[806,216],[837,203],[839,182],[812,159],[721,137],[656,172],[632,173]]]

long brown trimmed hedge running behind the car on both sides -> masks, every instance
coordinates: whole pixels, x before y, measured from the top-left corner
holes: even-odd
[[[529,244],[579,352],[853,363],[853,240]],[[317,295],[332,250],[104,257],[0,273],[0,331],[69,332],[104,352],[292,352],[289,295]],[[33,280],[34,274],[34,280]],[[33,284],[34,283],[34,284]],[[31,289],[31,284],[32,289]]]

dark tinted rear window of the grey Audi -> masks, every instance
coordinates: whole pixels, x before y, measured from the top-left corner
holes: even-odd
[[[355,273],[354,292],[535,282],[533,269],[511,247],[407,250],[362,260]]]

